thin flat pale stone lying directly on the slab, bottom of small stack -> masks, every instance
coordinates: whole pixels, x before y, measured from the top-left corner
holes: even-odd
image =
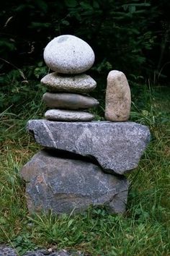
[[[84,111],[50,109],[45,112],[45,118],[53,121],[91,121],[94,115]]]

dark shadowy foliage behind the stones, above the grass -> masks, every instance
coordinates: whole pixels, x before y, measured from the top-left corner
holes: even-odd
[[[9,0],[0,7],[1,107],[7,106],[9,90],[13,96],[8,101],[17,102],[16,90],[27,93],[30,81],[47,74],[43,49],[63,34],[76,35],[94,49],[89,74],[95,79],[106,80],[108,72],[117,69],[131,86],[148,81],[169,85],[168,0]],[[103,83],[98,93],[104,88]]]

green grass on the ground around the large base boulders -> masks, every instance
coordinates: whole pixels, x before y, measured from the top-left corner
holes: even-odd
[[[131,120],[148,125],[151,142],[138,168],[128,174],[127,211],[110,215],[89,208],[76,216],[30,216],[19,170],[39,146],[24,132],[43,107],[27,104],[19,115],[9,108],[0,116],[0,243],[18,255],[35,247],[55,247],[84,255],[170,255],[170,97],[168,88],[140,87]],[[32,104],[32,105],[31,105]],[[29,109],[29,111],[27,111]]]

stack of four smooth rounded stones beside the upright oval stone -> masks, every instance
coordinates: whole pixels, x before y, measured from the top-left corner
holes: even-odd
[[[49,92],[42,100],[50,109],[45,113],[53,121],[91,121],[94,115],[86,111],[99,104],[86,93],[96,88],[97,83],[84,74],[94,64],[92,48],[73,35],[61,35],[48,43],[44,59],[53,73],[47,74],[41,82]],[[81,93],[81,94],[79,94]]]

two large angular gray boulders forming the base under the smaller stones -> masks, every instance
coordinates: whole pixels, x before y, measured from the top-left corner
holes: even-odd
[[[150,138],[134,122],[30,120],[27,129],[45,150],[22,168],[30,212],[75,213],[106,205],[123,213],[128,182]]]

